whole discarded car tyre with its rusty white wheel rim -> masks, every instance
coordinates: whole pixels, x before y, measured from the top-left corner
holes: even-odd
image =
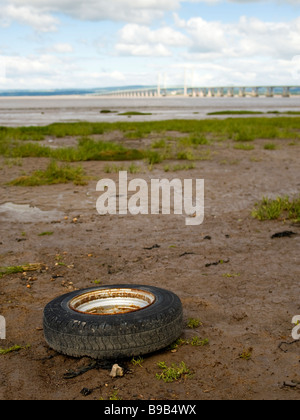
[[[85,289],[58,297],[44,310],[47,343],[73,357],[140,356],[167,347],[182,330],[180,299],[156,287]]]

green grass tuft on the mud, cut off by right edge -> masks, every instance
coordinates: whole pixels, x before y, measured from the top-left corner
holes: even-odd
[[[278,197],[276,200],[264,197],[255,204],[252,217],[258,220],[294,220],[300,221],[300,195],[294,199],[288,196]]]

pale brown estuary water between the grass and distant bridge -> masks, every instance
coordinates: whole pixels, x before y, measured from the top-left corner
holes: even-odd
[[[102,110],[111,111],[101,113]],[[205,119],[216,111],[300,111],[300,96],[212,97],[212,98],[113,98],[91,95],[48,97],[0,97],[0,126],[42,126],[54,122],[158,121],[167,119]],[[138,111],[151,115],[121,116]],[[269,117],[274,114],[269,114]],[[218,116],[217,118],[228,118]]]

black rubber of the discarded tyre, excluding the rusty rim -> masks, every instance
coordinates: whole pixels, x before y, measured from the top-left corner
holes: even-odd
[[[70,302],[77,296],[103,289],[130,288],[155,296],[148,307],[116,315],[77,312]],[[44,334],[49,346],[73,357],[107,360],[141,356],[176,341],[183,330],[180,299],[172,292],[140,285],[102,286],[68,293],[44,310]]]

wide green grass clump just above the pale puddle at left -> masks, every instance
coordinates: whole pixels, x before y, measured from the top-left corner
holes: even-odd
[[[35,187],[40,185],[67,184],[73,182],[75,185],[86,185],[86,176],[83,168],[78,166],[72,168],[69,165],[59,166],[52,161],[46,170],[35,171],[31,175],[24,175],[10,182],[10,185],[21,187]]]

